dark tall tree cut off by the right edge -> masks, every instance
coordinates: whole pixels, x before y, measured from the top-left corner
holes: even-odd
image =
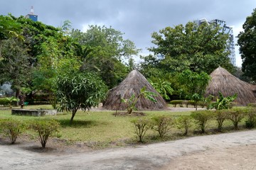
[[[238,45],[240,45],[240,54],[242,58],[242,72],[245,76],[256,81],[256,8],[252,16],[246,18],[242,25],[244,31],[238,35]]]

